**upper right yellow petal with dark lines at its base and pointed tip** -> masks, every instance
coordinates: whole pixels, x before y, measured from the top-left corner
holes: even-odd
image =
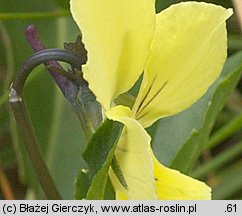
[[[226,59],[226,19],[232,10],[185,2],[157,15],[152,53],[134,106],[144,127],[195,103]]]

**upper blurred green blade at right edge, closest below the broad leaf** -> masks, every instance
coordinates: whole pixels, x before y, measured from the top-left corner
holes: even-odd
[[[231,120],[228,124],[223,126],[221,129],[216,131],[211,138],[209,139],[207,145],[205,146],[206,149],[211,149],[227,139],[232,134],[238,132],[242,129],[242,114],[235,117]]]

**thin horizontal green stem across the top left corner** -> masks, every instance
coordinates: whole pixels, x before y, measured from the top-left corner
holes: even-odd
[[[0,20],[14,19],[47,19],[51,17],[70,16],[69,11],[36,12],[36,13],[0,13]]]

